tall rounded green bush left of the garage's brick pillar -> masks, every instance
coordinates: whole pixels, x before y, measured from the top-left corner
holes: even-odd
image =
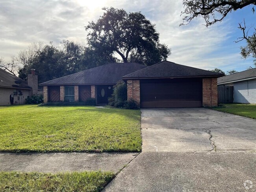
[[[113,94],[108,98],[108,104],[113,107],[123,108],[127,100],[127,85],[118,81],[113,87]]]

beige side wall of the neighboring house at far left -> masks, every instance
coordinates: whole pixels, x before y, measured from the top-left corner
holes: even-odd
[[[32,90],[28,89],[12,89],[12,88],[2,88],[0,87],[0,105],[9,105],[10,94],[13,92],[21,91],[22,95],[13,96],[13,104],[25,104],[25,99],[30,96]]]

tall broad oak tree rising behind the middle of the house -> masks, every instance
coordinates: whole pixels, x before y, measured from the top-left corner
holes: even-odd
[[[111,57],[118,54],[125,63],[137,61],[145,65],[167,59],[171,54],[167,45],[160,44],[155,25],[145,15],[113,7],[102,9],[104,14],[85,26],[88,44],[94,50]]]

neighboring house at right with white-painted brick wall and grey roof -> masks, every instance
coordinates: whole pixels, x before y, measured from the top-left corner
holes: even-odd
[[[234,103],[256,104],[256,68],[218,78],[218,86],[233,86]]]

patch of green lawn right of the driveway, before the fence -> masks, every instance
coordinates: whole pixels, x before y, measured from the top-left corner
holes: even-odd
[[[256,119],[256,105],[249,104],[224,104],[223,107],[213,107],[214,110],[236,114]]]

